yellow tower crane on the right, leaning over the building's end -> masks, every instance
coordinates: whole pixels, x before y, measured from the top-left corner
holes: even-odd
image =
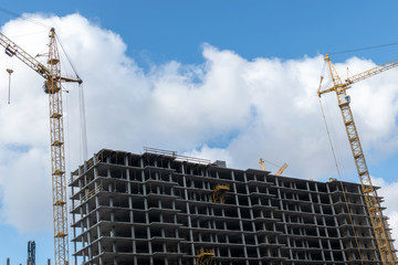
[[[321,97],[323,94],[329,92],[335,92],[337,95],[338,107],[342,112],[343,121],[346,128],[348,141],[355,160],[356,169],[359,176],[362,191],[364,193],[365,202],[368,209],[371,226],[381,256],[381,262],[384,265],[396,264],[397,262],[396,255],[394,254],[395,248],[392,246],[392,242],[389,240],[389,234],[387,234],[388,231],[385,224],[385,220],[383,218],[380,203],[377,199],[376,190],[371,184],[370,174],[366,166],[364,151],[359,141],[359,135],[354,123],[352,109],[349,107],[350,98],[347,95],[346,91],[350,88],[354,83],[357,83],[359,81],[366,80],[370,76],[377,75],[387,70],[398,66],[398,59],[378,65],[376,67],[373,67],[368,71],[365,71],[352,77],[348,77],[344,82],[338,76],[333,63],[331,62],[331,57],[328,54],[326,54],[324,60],[329,72],[333,86],[326,89],[321,89],[320,86],[320,89],[317,91],[317,95],[318,97]],[[321,82],[322,80],[323,77],[321,76]]]

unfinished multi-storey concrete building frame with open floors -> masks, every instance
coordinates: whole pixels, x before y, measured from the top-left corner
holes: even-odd
[[[356,183],[145,148],[101,150],[70,187],[75,264],[381,264]]]

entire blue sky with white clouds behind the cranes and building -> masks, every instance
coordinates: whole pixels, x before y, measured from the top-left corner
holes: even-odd
[[[102,148],[139,153],[148,146],[226,160],[232,168],[259,168],[263,158],[273,172],[274,165],[286,162],[286,176],[336,178],[316,96],[323,56],[336,53],[331,56],[343,78],[397,56],[397,45],[359,51],[397,42],[389,31],[397,24],[395,9],[359,1],[345,3],[344,13],[338,4],[296,1],[122,1],[94,9],[90,1],[49,3],[1,7],[0,25],[32,55],[46,51],[49,29],[55,28],[84,81],[81,88],[66,85],[63,94],[69,171],[83,157],[83,89],[90,156]],[[356,51],[338,53],[348,50]],[[64,73],[73,74],[62,60]],[[10,105],[6,68],[14,71]],[[349,92],[395,237],[397,73],[390,70]],[[18,59],[0,53],[0,262],[10,256],[12,263],[24,263],[28,240],[36,241],[38,263],[53,256],[49,107],[42,83]],[[322,105],[342,178],[357,182],[335,96],[325,95]]]

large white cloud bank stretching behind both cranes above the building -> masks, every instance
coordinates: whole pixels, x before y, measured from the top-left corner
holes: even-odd
[[[126,55],[127,46],[119,35],[78,14],[32,19],[56,26],[84,80],[90,153],[101,148],[139,152],[143,146],[149,146],[227,160],[233,168],[259,168],[262,157],[279,165],[287,162],[285,172],[293,177],[320,179],[334,174],[316,96],[321,55],[248,61],[233,51],[205,44],[202,64],[171,61],[153,65],[145,73]],[[14,32],[24,35],[15,36],[15,42],[31,54],[45,51],[46,32],[25,35],[38,32],[34,24],[11,21],[2,32],[10,38],[17,35]],[[12,62],[15,72],[10,106],[6,104],[8,75],[0,71],[1,214],[6,222],[29,231],[52,222],[51,216],[44,221],[34,214],[51,204],[46,202],[51,198],[48,98],[41,89],[41,77],[17,59],[0,56],[0,68]],[[343,73],[347,65],[359,72],[375,64],[354,57],[336,67]],[[396,73],[391,70],[352,89],[363,145],[375,156],[391,153],[398,147]],[[64,121],[71,142],[66,165],[73,170],[80,161],[78,100],[76,86],[66,88],[70,93],[64,94]],[[373,96],[375,92],[377,96]],[[329,99],[333,97],[327,95],[331,115],[337,115],[332,127],[345,150],[341,159],[352,161],[339,113]],[[10,146],[24,151],[10,150]],[[352,169],[354,165],[348,166],[348,171]],[[12,174],[19,174],[18,182],[10,179]],[[18,186],[21,183],[29,184],[23,192]],[[28,210],[18,211],[21,206]],[[51,206],[45,211],[49,214]]]

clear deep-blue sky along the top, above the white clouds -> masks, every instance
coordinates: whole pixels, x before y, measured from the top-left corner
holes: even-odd
[[[391,26],[396,3],[386,1],[13,1],[14,13],[78,12],[123,36],[128,54],[139,59],[201,62],[199,46],[209,42],[247,59],[297,59],[397,42]],[[2,13],[1,22],[10,15]],[[394,47],[366,52],[385,62]],[[346,55],[345,55],[346,56]],[[345,56],[338,56],[344,60]],[[144,59],[142,59],[144,60]],[[337,60],[337,59],[336,59]]]

